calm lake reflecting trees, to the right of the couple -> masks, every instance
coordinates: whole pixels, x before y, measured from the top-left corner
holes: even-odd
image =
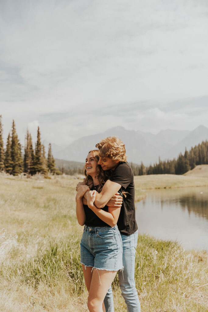
[[[208,250],[208,187],[145,190],[136,203],[139,233]]]

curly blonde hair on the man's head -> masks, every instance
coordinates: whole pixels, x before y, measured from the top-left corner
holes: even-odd
[[[95,145],[99,149],[99,157],[112,160],[127,161],[125,144],[118,137],[107,137]]]

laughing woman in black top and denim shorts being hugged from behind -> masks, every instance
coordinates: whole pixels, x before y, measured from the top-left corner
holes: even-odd
[[[104,298],[116,272],[122,266],[122,240],[116,225],[120,208],[98,209],[94,206],[96,191],[100,192],[106,178],[98,166],[98,151],[92,150],[86,158],[85,181],[91,180],[93,190],[87,193],[87,206],[82,197],[89,187],[80,185],[76,195],[76,215],[84,232],[80,243],[80,262],[84,273],[90,312],[105,312]],[[102,218],[102,220],[101,220]]]

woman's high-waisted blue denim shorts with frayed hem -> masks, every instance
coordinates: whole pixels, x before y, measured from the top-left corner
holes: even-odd
[[[115,227],[87,227],[80,243],[80,263],[92,269],[118,271],[123,269],[122,239]]]

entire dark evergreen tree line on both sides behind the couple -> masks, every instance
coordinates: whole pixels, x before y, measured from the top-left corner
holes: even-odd
[[[35,149],[33,149],[32,137],[29,131],[25,137],[24,155],[22,156],[22,145],[17,136],[14,120],[12,122],[12,130],[7,137],[6,149],[3,144],[2,134],[2,116],[0,115],[0,171],[5,171],[12,175],[27,173],[34,175],[36,173],[52,173],[52,174],[75,174],[83,173],[82,168],[64,168],[64,164],[60,166],[60,170],[56,168],[55,159],[51,151],[51,144],[48,147],[48,155],[46,158],[45,146],[41,144],[40,128],[37,129],[37,141]],[[208,141],[192,147],[185,153],[180,153],[177,159],[161,161],[153,166],[144,166],[131,163],[134,175],[148,174],[183,174],[196,167],[196,165],[208,164]]]

